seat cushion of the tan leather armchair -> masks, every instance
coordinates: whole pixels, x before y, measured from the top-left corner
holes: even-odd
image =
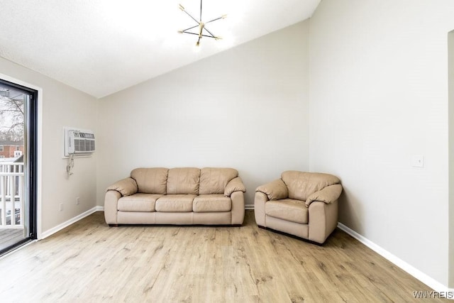
[[[308,224],[309,209],[304,201],[295,199],[273,200],[265,204],[265,214],[277,219]]]

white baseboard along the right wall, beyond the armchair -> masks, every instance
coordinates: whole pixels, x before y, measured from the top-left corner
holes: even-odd
[[[397,265],[399,268],[402,268],[402,270],[405,270],[413,277],[416,277],[416,279],[420,280],[421,282],[426,284],[428,287],[431,287],[436,292],[441,292],[444,294],[446,294],[448,292],[450,294],[454,293],[454,289],[450,289],[450,288],[446,287],[445,285],[441,284],[440,282],[434,280],[432,277],[429,277],[424,272],[421,272],[421,270],[414,268],[413,266],[409,265],[409,263],[406,263],[404,260],[397,258],[397,256],[393,255],[392,253],[389,253],[389,251],[378,246],[377,244],[373,243],[369,239],[361,236],[356,231],[353,231],[353,229],[343,225],[340,222],[338,222],[338,228],[340,228],[342,231],[345,231],[345,233],[348,233],[350,236],[352,236],[356,240],[360,241],[362,244],[364,244],[368,248],[374,250],[375,253],[378,253],[383,258],[389,260],[389,262],[394,263],[394,265]]]

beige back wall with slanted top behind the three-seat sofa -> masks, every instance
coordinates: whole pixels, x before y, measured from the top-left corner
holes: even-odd
[[[98,205],[135,167],[234,167],[248,205],[282,170],[307,170],[308,33],[297,23],[100,99]]]

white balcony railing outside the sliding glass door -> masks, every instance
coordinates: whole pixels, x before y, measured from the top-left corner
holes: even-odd
[[[0,228],[23,226],[23,163],[0,162]]]

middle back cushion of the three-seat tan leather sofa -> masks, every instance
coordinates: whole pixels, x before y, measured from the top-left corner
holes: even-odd
[[[199,168],[171,168],[167,175],[167,194],[199,194],[199,180]]]

